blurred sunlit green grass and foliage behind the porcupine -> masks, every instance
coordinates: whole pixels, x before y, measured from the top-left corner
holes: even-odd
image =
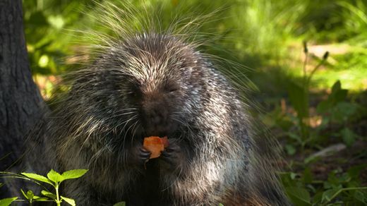
[[[280,175],[294,204],[367,204],[367,1],[130,2],[159,8],[162,25],[177,13],[216,11],[197,31],[212,36],[200,50],[241,65],[232,74],[249,87],[253,116],[282,145]],[[74,30],[101,30],[95,11],[87,0],[23,0],[30,66],[44,99],[78,67],[70,57],[82,49]]]

